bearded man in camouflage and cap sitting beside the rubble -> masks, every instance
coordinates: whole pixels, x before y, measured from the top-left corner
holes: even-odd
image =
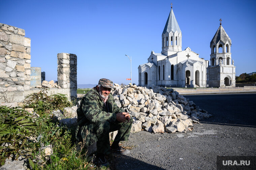
[[[101,78],[98,85],[82,98],[77,109],[76,139],[78,141],[85,139],[85,147],[97,141],[96,160],[101,166],[109,165],[105,155],[111,152],[130,153],[129,150],[119,147],[119,142],[128,139],[132,119],[129,113],[117,106],[110,94],[111,88],[113,82]],[[118,133],[110,147],[109,132],[116,130]]]

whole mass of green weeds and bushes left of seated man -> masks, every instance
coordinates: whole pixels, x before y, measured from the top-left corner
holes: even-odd
[[[62,94],[47,95],[45,89],[29,95],[24,107],[0,106],[0,163],[7,158],[28,159],[30,169],[94,169],[83,145],[77,151],[74,129],[60,126],[50,113],[72,104]],[[33,108],[34,114],[25,108]],[[46,154],[45,148],[51,148]]]

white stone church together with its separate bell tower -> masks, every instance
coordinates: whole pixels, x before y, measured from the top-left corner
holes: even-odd
[[[221,19],[220,19],[221,21]],[[161,53],[151,52],[148,63],[138,67],[139,86],[235,87],[231,40],[221,26],[211,43],[210,61],[189,47],[182,51],[182,33],[171,8],[162,33]]]

